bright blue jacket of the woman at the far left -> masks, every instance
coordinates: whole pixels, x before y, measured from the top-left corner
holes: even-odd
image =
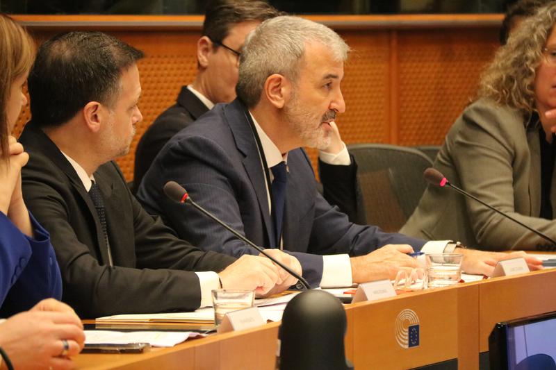
[[[50,237],[31,215],[34,237],[0,212],[0,317],[28,310],[44,298],[62,298],[62,278]]]

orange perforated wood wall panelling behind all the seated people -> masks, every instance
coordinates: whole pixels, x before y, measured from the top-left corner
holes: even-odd
[[[480,69],[496,47],[497,32],[496,27],[340,31],[353,49],[342,83],[347,110],[338,117],[343,140],[347,144],[441,144],[475,92]],[[40,41],[54,32],[37,29],[33,34]],[[199,31],[111,34],[147,55],[139,62],[143,121],[137,126],[130,153],[117,160],[126,178],[133,180],[140,135],[174,103],[181,85],[195,77]],[[26,107],[16,135],[28,119]],[[309,150],[309,155],[316,165],[317,151]]]

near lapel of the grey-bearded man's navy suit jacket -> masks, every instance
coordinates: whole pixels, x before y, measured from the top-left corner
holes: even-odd
[[[270,239],[268,243],[274,248],[276,237],[272,219],[270,218],[270,209],[268,208],[265,171],[263,171],[261,155],[259,155],[259,149],[257,148],[254,133],[250,126],[249,112],[247,112],[247,109],[239,99],[224,106],[223,110],[224,119],[234,136],[236,147],[243,154],[243,167],[250,178],[259,203],[264,227]]]

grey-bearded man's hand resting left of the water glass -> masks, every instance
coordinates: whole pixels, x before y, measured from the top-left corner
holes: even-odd
[[[389,244],[368,255],[352,257],[352,280],[354,283],[366,283],[372,280],[393,280],[400,269],[420,267],[412,253],[413,248],[407,244]]]

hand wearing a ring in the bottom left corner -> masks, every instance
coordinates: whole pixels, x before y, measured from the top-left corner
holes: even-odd
[[[60,357],[63,340],[69,348]],[[83,325],[74,312],[31,310],[0,324],[0,346],[15,369],[71,369],[70,357],[81,351],[84,342]]]

